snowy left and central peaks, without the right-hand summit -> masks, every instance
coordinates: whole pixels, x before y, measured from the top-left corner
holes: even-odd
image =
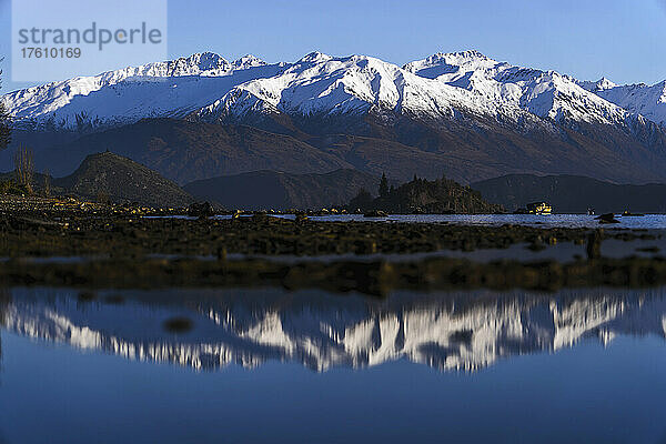
[[[196,112],[214,119],[251,110],[287,114],[408,112],[431,119],[457,111],[517,119],[521,109],[418,77],[364,56],[333,58],[319,52],[295,63],[266,64],[248,56],[235,62],[203,53],[170,62],[125,68],[7,94],[17,122],[75,128],[81,118],[97,125],[142,118],[182,118]],[[79,119],[77,119],[79,118]]]

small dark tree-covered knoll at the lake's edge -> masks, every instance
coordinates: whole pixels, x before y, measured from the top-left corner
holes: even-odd
[[[414,178],[398,188],[387,188],[375,199],[362,191],[347,206],[352,211],[382,210],[397,214],[486,214],[504,210],[483,200],[477,191],[444,178],[434,181]]]

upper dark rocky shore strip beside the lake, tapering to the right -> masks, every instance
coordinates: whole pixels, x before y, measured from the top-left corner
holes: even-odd
[[[160,215],[141,209],[0,213],[0,258],[408,254],[472,252],[515,244],[543,250],[562,242],[583,245],[591,242],[591,234],[596,236],[593,243],[656,238],[638,230],[319,222],[266,214],[231,219]],[[594,251],[588,253],[597,256]]]

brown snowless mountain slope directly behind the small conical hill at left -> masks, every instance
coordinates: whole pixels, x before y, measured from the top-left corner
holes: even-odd
[[[138,123],[84,135],[44,149],[38,169],[73,171],[88,154],[111,150],[140,162],[178,183],[256,170],[294,173],[349,168],[344,161],[293,138],[250,127],[220,125],[172,119]]]

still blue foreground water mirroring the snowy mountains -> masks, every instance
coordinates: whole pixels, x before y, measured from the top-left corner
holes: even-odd
[[[14,289],[0,316],[0,443],[666,442],[664,290]]]

